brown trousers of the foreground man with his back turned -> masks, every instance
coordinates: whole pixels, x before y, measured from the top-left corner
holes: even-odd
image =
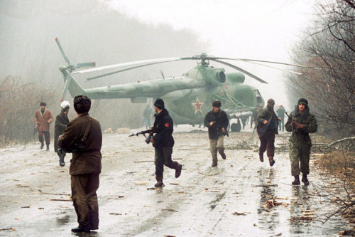
[[[99,204],[96,191],[99,189],[99,174],[72,175],[72,202],[77,213],[77,222],[91,230],[99,228]]]

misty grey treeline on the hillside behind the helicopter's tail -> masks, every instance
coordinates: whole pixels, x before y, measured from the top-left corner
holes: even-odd
[[[174,31],[167,25],[146,25],[114,11],[104,1],[0,1],[0,79],[21,78],[22,83],[35,83],[38,90],[49,91],[47,100],[53,115],[60,112],[60,93],[64,85],[60,65],[66,65],[55,43],[58,37],[70,63],[96,62],[97,66],[131,60],[193,56],[207,51],[206,43],[192,31]],[[153,80],[165,76],[180,76],[195,66],[190,63],[165,63],[130,70],[88,83],[83,88]],[[97,74],[91,74],[97,75]],[[69,93],[66,100],[72,103]],[[149,100],[148,100],[149,101]],[[35,109],[38,101],[22,103]],[[151,101],[150,101],[151,102]],[[127,106],[129,104],[129,106]],[[131,104],[131,100],[93,100],[90,114],[102,122],[102,129],[140,127],[146,104]],[[27,114],[18,116],[26,117]],[[34,116],[34,115],[33,115]],[[32,125],[30,115],[26,126]],[[75,112],[70,110],[70,118]],[[51,126],[52,130],[54,125]]]

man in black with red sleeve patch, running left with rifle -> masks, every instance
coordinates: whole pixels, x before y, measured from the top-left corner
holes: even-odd
[[[174,138],[173,138],[173,120],[168,110],[165,109],[164,101],[156,99],[154,102],[155,122],[152,132],[155,133],[151,137],[151,143],[155,148],[155,179],[157,183],[155,187],[163,187],[164,165],[170,169],[175,169],[175,178],[180,177],[182,165],[173,162],[171,154],[173,154]]]

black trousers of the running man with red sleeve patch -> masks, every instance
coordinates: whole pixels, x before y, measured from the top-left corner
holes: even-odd
[[[173,162],[171,159],[171,154],[173,154],[173,147],[155,147],[155,177],[157,180],[163,180],[164,165],[170,169],[176,169],[178,167],[178,162]]]

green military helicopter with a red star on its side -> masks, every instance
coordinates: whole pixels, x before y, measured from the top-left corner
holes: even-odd
[[[239,60],[251,63],[278,63],[244,58],[221,58],[208,56],[206,53],[202,53],[192,57],[139,60],[93,68],[95,67],[95,63],[70,64],[60,46],[58,38],[55,38],[55,41],[60,48],[62,56],[67,62],[66,66],[60,66],[59,68],[65,81],[61,96],[62,100],[65,97],[67,90],[69,90],[72,97],[75,97],[75,95],[87,95],[87,97],[91,99],[130,98],[131,102],[147,102],[147,98],[163,98],[165,101],[165,107],[168,108],[175,124],[190,125],[202,125],[204,116],[212,109],[212,102],[214,100],[220,100],[222,102],[223,110],[229,115],[230,129],[232,132],[239,132],[241,130],[241,122],[245,122],[246,119],[252,115],[252,111],[255,110],[257,105],[264,105],[264,100],[258,89],[251,85],[244,84],[244,74],[249,75],[251,78],[258,80],[261,83],[267,82],[236,65],[225,62],[224,60]],[[73,77],[75,74],[109,70],[111,68],[124,68],[92,78],[87,78],[87,80],[94,80],[96,78],[102,78],[126,70],[133,70],[148,65],[178,60],[197,60],[197,66],[188,70],[187,73],[182,74],[180,77],[148,80],[121,85],[107,85],[91,89],[82,88]],[[214,68],[212,65],[209,65],[209,61],[227,65],[238,71],[234,73],[225,73],[224,68]],[[278,64],[293,65],[288,63]],[[264,66],[271,67],[269,65]],[[305,67],[303,65],[295,66]],[[86,69],[77,70],[80,68]],[[290,70],[286,71],[296,73]]]

